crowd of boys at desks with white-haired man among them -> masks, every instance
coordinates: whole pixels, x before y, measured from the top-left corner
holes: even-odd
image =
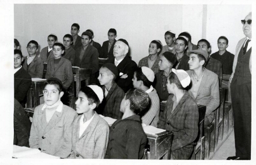
[[[147,144],[144,124],[173,131],[171,159],[189,159],[198,135],[198,105],[206,106],[207,127],[220,104],[222,74],[232,73],[234,55],[226,50],[228,39],[220,36],[219,51],[210,55],[206,39],[195,45],[188,32],[176,38],[175,32],[167,31],[166,45],[153,40],[149,55],[137,65],[127,56],[129,43],[115,39],[115,29],[109,30],[102,46],[93,40],[92,30],[79,36],[79,29],[74,23],[63,44],[50,34],[49,46],[39,56],[36,41],[27,44],[24,58],[14,39],[14,98],[23,107],[31,78],[42,78],[43,62],[47,63],[44,104],[35,107],[31,130],[15,134],[14,144],[62,158],[141,159]],[[106,58],[100,68],[99,58]],[[92,69],[93,85],[81,87],[75,110],[60,100],[73,81],[72,66]],[[166,108],[159,117],[161,101]],[[109,127],[99,114],[117,121]],[[27,141],[19,143],[20,137]]]

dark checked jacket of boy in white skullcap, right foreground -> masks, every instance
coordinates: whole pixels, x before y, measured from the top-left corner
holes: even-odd
[[[173,131],[174,138],[171,154],[174,159],[188,159],[193,151],[194,141],[198,135],[199,112],[196,101],[187,91],[173,109],[173,97],[170,95],[166,102],[163,116],[160,118],[158,128]],[[190,151],[188,153],[183,151]]]

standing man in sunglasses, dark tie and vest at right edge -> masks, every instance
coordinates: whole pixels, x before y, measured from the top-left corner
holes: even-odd
[[[238,42],[229,79],[236,156],[227,160],[251,159],[251,12],[241,21],[246,37]]]

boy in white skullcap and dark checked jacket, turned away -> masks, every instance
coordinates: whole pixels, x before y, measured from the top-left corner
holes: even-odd
[[[198,135],[199,113],[196,101],[185,88],[190,77],[182,69],[172,69],[167,80],[168,97],[158,127],[173,131],[174,139],[170,159],[189,159]]]

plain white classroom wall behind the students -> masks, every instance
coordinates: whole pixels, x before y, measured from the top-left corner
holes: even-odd
[[[249,5],[53,5],[15,4],[14,37],[27,56],[26,45],[36,40],[41,50],[47,46],[47,36],[55,33],[62,42],[70,33],[72,23],[80,25],[80,35],[87,29],[94,31],[94,40],[102,44],[108,40],[108,30],[117,30],[117,39],[129,42],[132,59],[138,63],[148,55],[148,45],[159,39],[165,45],[164,33],[173,30],[178,36],[188,31],[192,42],[206,37],[212,52],[218,51],[217,39],[225,35],[230,41],[228,50],[243,37],[240,20],[250,10]],[[236,12],[234,12],[236,11]],[[39,53],[39,52],[38,52]]]

